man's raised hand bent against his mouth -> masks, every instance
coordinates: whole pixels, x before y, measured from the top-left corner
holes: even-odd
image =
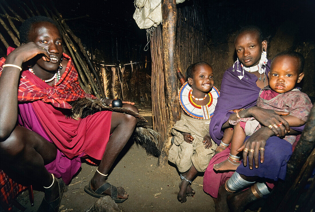
[[[45,48],[38,46],[34,42],[29,42],[22,44],[9,53],[5,63],[21,66],[22,63],[34,58],[36,55],[41,55],[44,61],[50,61],[49,53]]]

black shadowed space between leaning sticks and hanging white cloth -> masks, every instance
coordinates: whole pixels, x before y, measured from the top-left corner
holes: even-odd
[[[67,20],[67,24],[89,52],[98,49],[106,64],[143,62],[150,56],[150,51],[144,51],[146,31],[132,18],[133,1],[63,0],[55,4],[64,18],[89,16]]]

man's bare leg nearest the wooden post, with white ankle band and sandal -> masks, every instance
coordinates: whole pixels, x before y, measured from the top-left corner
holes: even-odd
[[[138,113],[138,109],[130,104],[125,104],[123,107],[131,109]],[[118,154],[121,152],[123,147],[128,142],[130,136],[132,135],[135,126],[137,124],[137,119],[131,115],[123,113],[112,113],[111,121],[111,137],[106,145],[106,149],[99,167],[97,168],[100,173],[107,175],[109,170],[112,168],[114,161],[116,160]],[[91,188],[95,191],[97,188],[106,183],[107,176],[103,176],[98,172],[95,172],[93,178],[91,179]],[[117,197],[121,199],[127,199],[128,193],[125,192],[123,187],[117,187]],[[108,189],[104,192],[106,195],[111,195],[111,190]]]

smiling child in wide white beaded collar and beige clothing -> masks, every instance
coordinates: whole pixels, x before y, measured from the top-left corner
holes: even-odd
[[[181,173],[177,195],[181,203],[186,202],[186,196],[195,194],[190,184],[198,172],[206,170],[215,153],[217,145],[209,135],[209,123],[213,114],[211,107],[219,96],[213,87],[213,71],[208,63],[190,65],[186,75],[187,82],[179,92],[181,117],[171,129],[174,143],[169,150],[169,161]],[[210,93],[211,90],[215,91],[215,97]]]

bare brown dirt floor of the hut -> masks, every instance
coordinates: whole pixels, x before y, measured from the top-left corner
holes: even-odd
[[[140,109],[152,126],[151,108]],[[108,181],[115,186],[123,186],[129,192],[129,198],[118,204],[121,211],[215,211],[212,198],[203,192],[203,176],[197,176],[192,182],[196,191],[194,197],[188,197],[181,204],[177,200],[180,176],[176,168],[166,165],[157,167],[157,158],[149,156],[137,144],[126,146],[124,155],[110,173]],[[68,191],[64,192],[59,212],[86,211],[97,198],[85,193],[96,171],[96,166],[82,164],[82,170],[71,181]],[[28,192],[25,191],[17,200],[26,207],[25,211],[36,211],[43,198],[43,192],[34,191],[35,205],[31,207]],[[14,207],[14,211],[20,211]]]

